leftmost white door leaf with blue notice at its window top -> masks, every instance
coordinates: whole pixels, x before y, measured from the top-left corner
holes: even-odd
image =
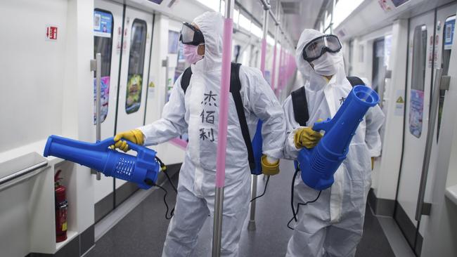
[[[101,138],[109,138],[115,132],[117,84],[120,65],[122,35],[122,5],[108,1],[94,2],[94,56],[101,53]],[[95,88],[95,78],[94,78]],[[94,89],[95,103],[95,89]],[[95,105],[94,105],[95,110]],[[94,131],[96,116],[94,114]],[[94,179],[95,220],[100,220],[112,210],[113,178],[101,176]],[[107,197],[111,199],[107,199]],[[105,199],[107,204],[101,202]],[[97,204],[98,203],[98,204]]]

